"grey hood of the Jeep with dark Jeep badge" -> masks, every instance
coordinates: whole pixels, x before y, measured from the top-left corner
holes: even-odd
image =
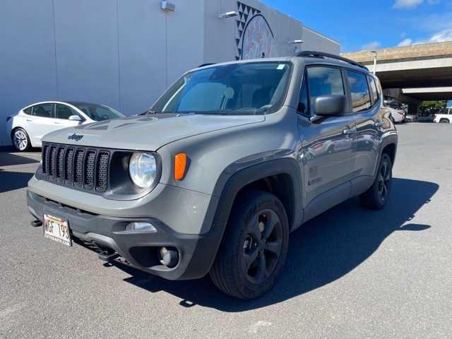
[[[47,134],[43,141],[127,150],[157,150],[167,143],[190,136],[256,124],[265,119],[264,116],[155,114],[61,129]],[[76,136],[73,136],[74,133]],[[73,137],[69,139],[69,136]]]

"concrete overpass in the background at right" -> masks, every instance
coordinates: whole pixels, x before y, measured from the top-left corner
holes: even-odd
[[[452,99],[452,42],[379,49],[376,74],[383,89],[401,89],[413,101]],[[374,53],[344,53],[374,70]]]

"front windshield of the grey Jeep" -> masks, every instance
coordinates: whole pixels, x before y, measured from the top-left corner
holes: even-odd
[[[155,113],[266,114],[285,100],[288,62],[210,67],[180,78],[150,109]]]

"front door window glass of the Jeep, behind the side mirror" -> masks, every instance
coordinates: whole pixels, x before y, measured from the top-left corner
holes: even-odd
[[[309,67],[307,69],[308,87],[309,87],[309,103],[314,107],[316,97],[321,95],[344,95],[344,84],[342,81],[342,73],[340,69],[332,67]]]

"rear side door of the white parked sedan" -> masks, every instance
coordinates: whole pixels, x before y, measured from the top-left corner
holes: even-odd
[[[42,137],[54,128],[54,104],[47,102],[33,106],[26,123],[25,130],[32,145],[40,147]]]

